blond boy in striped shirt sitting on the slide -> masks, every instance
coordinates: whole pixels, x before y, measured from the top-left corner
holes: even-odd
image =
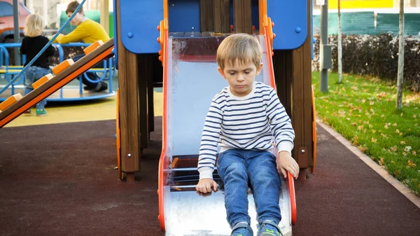
[[[273,88],[255,82],[262,69],[260,43],[249,34],[232,34],[221,42],[218,71],[229,86],[213,98],[202,132],[196,190],[217,190],[214,166],[224,184],[225,208],[232,235],[252,236],[248,183],[258,214],[258,236],[283,235],[279,228],[281,179],[295,178],[299,165],[291,156],[295,132]],[[275,144],[279,155],[272,153]],[[216,160],[218,146],[221,150]],[[204,213],[205,214],[205,213]]]

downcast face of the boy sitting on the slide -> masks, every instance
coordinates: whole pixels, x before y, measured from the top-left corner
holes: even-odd
[[[218,67],[218,71],[230,85],[230,92],[237,97],[248,95],[253,87],[255,76],[260,74],[262,64],[255,67],[252,62],[240,64],[238,60],[235,64],[225,63],[225,69]]]

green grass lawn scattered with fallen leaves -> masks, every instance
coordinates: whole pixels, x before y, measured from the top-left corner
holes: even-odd
[[[396,83],[377,78],[328,76],[328,93],[312,74],[316,115],[420,195],[420,94],[404,91],[395,108]]]

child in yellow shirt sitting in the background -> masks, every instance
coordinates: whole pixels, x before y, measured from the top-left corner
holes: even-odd
[[[72,1],[66,8],[66,14],[70,18],[70,16],[76,11],[80,4],[78,1]],[[55,39],[55,43],[73,43],[83,41],[84,43],[94,43],[96,41],[102,40],[104,43],[109,41],[109,35],[106,33],[104,27],[100,25],[98,22],[94,22],[93,20],[87,19],[85,17],[85,13],[83,13],[83,6],[79,9],[78,13],[74,15],[74,18],[71,19],[71,25],[76,26],[76,29],[73,30],[70,34],[64,35],[59,34]],[[85,56],[84,54],[76,55],[73,57],[73,61],[76,62]],[[97,68],[104,67],[103,62],[99,62],[96,66]],[[85,85],[85,90],[93,90],[95,92],[100,92],[106,90],[108,85],[101,81],[100,83],[92,83],[87,81],[85,76],[80,76],[82,78],[82,82]],[[94,72],[88,72],[87,77],[90,78],[92,81],[98,81],[99,76],[97,76]]]

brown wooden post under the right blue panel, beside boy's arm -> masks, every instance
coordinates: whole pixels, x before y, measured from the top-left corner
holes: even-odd
[[[293,158],[306,178],[307,169],[313,165],[312,100],[311,100],[311,1],[307,0],[308,36],[295,50],[274,50],[273,67],[277,94],[285,106],[295,128]],[[291,85],[291,86],[290,86]],[[291,88],[291,89],[290,89]]]

